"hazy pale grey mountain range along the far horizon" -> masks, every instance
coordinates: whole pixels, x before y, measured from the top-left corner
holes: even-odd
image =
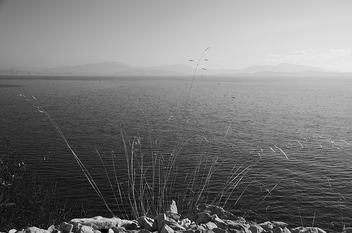
[[[37,70],[42,74],[70,74],[70,75],[193,75],[194,68],[189,65],[163,65],[152,67],[137,67],[119,62],[92,63],[75,66],[61,66]],[[199,71],[203,75],[329,75],[332,71],[309,65],[293,65],[282,63],[279,65],[253,65],[243,69],[208,69]]]

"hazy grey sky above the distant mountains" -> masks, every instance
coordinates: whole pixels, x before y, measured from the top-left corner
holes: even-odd
[[[352,71],[351,0],[0,0],[0,68],[119,61]]]

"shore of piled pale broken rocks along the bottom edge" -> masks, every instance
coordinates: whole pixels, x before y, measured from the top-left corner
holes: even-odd
[[[197,206],[184,218],[180,217],[176,203],[172,201],[165,213],[154,218],[75,218],[60,225],[51,225],[48,229],[27,227],[11,229],[8,233],[327,233],[319,227],[289,229],[285,222],[246,222],[244,218],[236,217],[223,208],[206,204]],[[346,227],[342,232],[352,233],[352,227]]]

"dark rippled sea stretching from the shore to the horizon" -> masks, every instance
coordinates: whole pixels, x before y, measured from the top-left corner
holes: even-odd
[[[352,77],[11,75],[0,99],[1,151],[9,141],[27,171],[104,217],[75,156],[117,216],[110,184],[126,182],[133,154],[164,170],[175,158],[184,190],[199,161],[213,165],[206,201],[236,180],[223,207],[247,220],[351,226]]]

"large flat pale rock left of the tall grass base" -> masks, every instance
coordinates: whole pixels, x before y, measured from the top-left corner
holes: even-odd
[[[93,229],[109,229],[118,226],[120,218],[103,218],[96,216],[94,218],[74,218],[70,220],[70,224],[73,225],[73,232],[78,229],[78,224],[92,227]]]

